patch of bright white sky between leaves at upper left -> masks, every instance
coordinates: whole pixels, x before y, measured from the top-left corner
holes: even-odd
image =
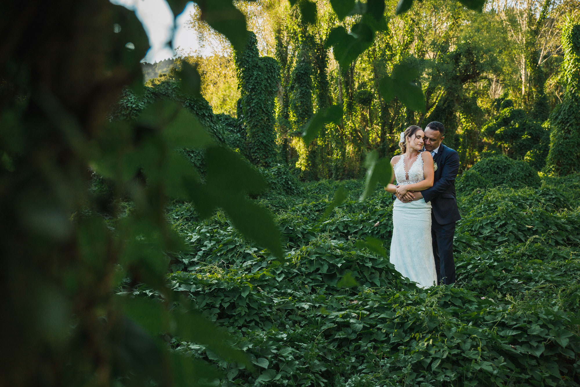
[[[190,27],[191,15],[197,7],[188,2],[183,12],[177,15],[175,23],[173,12],[165,0],[110,0],[111,3],[125,6],[135,11],[137,19],[149,38],[150,48],[142,62],[155,63],[174,58],[177,51],[182,55],[198,53],[211,55],[207,49],[200,47],[198,34]],[[177,51],[176,51],[177,50]]]

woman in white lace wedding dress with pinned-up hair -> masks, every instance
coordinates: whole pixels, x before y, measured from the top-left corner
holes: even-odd
[[[425,133],[409,126],[401,133],[401,155],[391,159],[394,176],[385,191],[404,198],[408,191],[422,191],[433,186],[433,156],[422,152]],[[397,178],[397,185],[392,184]],[[437,273],[431,242],[431,203],[424,199],[393,204],[393,239],[390,261],[403,277],[427,288],[437,284]]]

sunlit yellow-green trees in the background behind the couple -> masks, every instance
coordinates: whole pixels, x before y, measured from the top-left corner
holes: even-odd
[[[392,156],[401,131],[436,120],[447,128],[444,141],[458,151],[461,171],[498,150],[542,169],[549,150],[545,121],[568,82],[560,66],[561,28],[566,13],[578,23],[578,2],[490,1],[481,13],[458,2],[401,1],[398,11],[397,3],[239,3],[260,54],[274,53],[280,63],[275,128],[281,160],[301,169],[301,180],[358,178],[365,153]],[[222,73],[219,63],[208,71]],[[212,90],[218,101],[238,98]],[[209,89],[204,95],[222,111]],[[498,117],[497,102],[506,98],[513,109]],[[321,127],[309,145],[299,141],[305,122],[332,103],[342,107],[340,120]]]

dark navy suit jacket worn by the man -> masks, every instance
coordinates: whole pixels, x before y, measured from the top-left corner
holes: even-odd
[[[459,155],[441,144],[433,157],[437,170],[433,187],[421,191],[425,202],[431,202],[433,216],[438,224],[454,223],[461,219],[455,195],[455,177],[459,171]]]

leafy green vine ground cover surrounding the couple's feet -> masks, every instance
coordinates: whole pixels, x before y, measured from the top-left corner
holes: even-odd
[[[360,181],[262,199],[277,214],[283,262],[220,213],[198,221],[173,203],[168,216],[189,249],[171,256],[170,286],[231,332],[259,373],[179,337],[171,345],[214,360],[222,385],[578,386],[579,182],[460,196],[458,282],[427,290],[398,278],[391,199],[358,202]],[[340,185],[349,197],[323,218]]]

